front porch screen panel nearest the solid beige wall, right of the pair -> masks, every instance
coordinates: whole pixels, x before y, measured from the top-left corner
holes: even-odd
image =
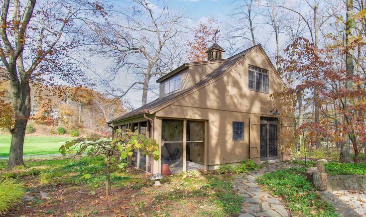
[[[186,170],[204,169],[205,122],[187,121],[187,158]]]

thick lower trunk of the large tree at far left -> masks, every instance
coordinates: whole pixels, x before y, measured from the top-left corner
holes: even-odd
[[[23,146],[25,128],[30,115],[30,86],[28,80],[19,81],[17,78],[12,77],[10,78],[10,88],[15,124],[10,130],[11,143],[7,167],[13,168],[15,166],[24,166]]]

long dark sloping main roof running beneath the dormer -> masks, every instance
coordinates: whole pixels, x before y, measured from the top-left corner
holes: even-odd
[[[218,68],[216,68],[213,72],[211,72],[210,74],[208,74],[205,78],[203,78],[201,81],[199,81],[198,83],[196,83],[195,85],[193,85],[192,87],[189,87],[185,90],[179,91],[177,93],[173,93],[170,95],[167,95],[165,97],[162,98],[158,98],[155,101],[152,101],[151,103],[148,103],[140,108],[136,108],[126,114],[123,114],[122,116],[115,118],[111,121],[108,121],[107,123],[113,123],[113,122],[117,122],[117,121],[121,121],[123,119],[127,119],[129,117],[132,116],[137,116],[137,115],[142,115],[144,110],[151,110],[154,108],[157,108],[159,106],[162,106],[176,98],[178,98],[179,96],[182,96],[194,89],[196,89],[199,86],[202,86],[212,80],[214,80],[215,78],[219,77],[220,75],[222,75],[224,72],[226,72],[228,69],[230,69],[233,65],[235,65],[241,58],[243,58],[246,54],[248,54],[249,52],[251,52],[252,50],[254,50],[257,47],[261,47],[260,44],[254,45],[232,57],[230,57],[229,59],[227,59],[227,61],[225,63],[223,63],[221,66],[219,66]]]

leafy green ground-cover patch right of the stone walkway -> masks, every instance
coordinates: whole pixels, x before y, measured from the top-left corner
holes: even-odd
[[[300,216],[338,216],[334,207],[313,191],[311,183],[302,175],[303,168],[290,168],[266,173],[257,178],[272,195],[286,201],[289,210]]]

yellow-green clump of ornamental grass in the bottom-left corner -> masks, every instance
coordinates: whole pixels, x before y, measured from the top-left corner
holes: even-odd
[[[0,179],[0,214],[9,211],[22,202],[23,185],[13,179]]]

